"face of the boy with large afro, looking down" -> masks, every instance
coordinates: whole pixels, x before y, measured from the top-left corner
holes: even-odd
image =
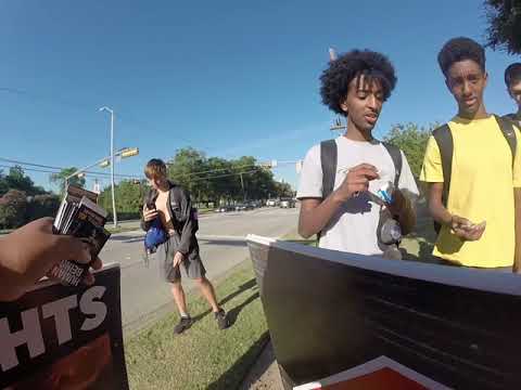
[[[383,89],[380,81],[361,75],[351,81],[347,96],[340,106],[359,130],[370,132],[377,125],[382,105]]]

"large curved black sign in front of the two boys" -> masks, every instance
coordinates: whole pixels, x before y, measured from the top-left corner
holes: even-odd
[[[403,377],[386,389],[521,389],[520,276],[256,236],[249,246],[287,388],[347,370]]]

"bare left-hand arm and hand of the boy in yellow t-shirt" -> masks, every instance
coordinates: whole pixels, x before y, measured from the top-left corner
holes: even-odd
[[[452,214],[443,206],[443,183],[429,184],[429,211],[440,224],[452,229],[461,240],[478,240],[485,231],[485,225],[472,225],[468,219]]]

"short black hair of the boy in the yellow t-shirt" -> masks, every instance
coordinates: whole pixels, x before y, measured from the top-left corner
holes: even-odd
[[[445,77],[454,63],[465,60],[472,60],[480,65],[481,70],[485,72],[485,50],[470,38],[453,38],[443,46],[437,54],[437,63]]]

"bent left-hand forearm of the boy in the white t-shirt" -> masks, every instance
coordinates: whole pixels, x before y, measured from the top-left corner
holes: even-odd
[[[338,209],[342,206],[342,203],[336,193],[333,192],[317,207],[307,210],[301,208],[298,234],[304,238],[308,238],[319,233],[333,218]]]

